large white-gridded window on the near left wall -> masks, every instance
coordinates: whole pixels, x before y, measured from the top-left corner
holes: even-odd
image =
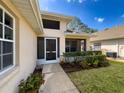
[[[14,18],[0,7],[0,72],[14,66]]]

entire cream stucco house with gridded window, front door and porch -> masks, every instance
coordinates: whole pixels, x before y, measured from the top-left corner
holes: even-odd
[[[40,12],[37,0],[0,0],[0,93],[17,93],[37,62],[89,49],[88,34],[65,32],[72,18]]]

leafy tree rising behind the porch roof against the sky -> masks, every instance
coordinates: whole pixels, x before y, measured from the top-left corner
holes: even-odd
[[[76,31],[76,32],[86,32],[86,33],[94,33],[97,32],[96,29],[89,28],[86,24],[82,23],[81,20],[75,17],[68,25],[68,30]]]

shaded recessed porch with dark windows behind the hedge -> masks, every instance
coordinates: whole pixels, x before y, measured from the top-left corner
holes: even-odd
[[[66,33],[65,52],[86,51],[89,35],[86,33]]]

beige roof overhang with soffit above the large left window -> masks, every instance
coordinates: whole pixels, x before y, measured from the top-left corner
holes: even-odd
[[[37,34],[43,32],[38,0],[11,0]]]

